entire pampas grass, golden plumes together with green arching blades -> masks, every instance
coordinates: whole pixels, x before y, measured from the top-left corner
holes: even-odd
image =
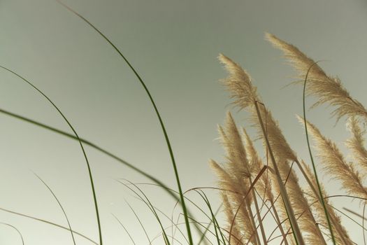
[[[57,0],[58,1],[58,0]],[[8,116],[13,116],[24,122],[32,123],[43,127],[44,129],[51,130],[57,134],[62,134],[73,140],[78,140],[82,153],[85,156],[87,162],[87,169],[92,188],[92,194],[94,198],[94,206],[96,209],[96,220],[99,228],[99,244],[103,244],[101,223],[99,220],[99,209],[97,205],[97,196],[94,191],[94,181],[92,179],[92,171],[89,167],[87,155],[83,146],[89,145],[106,155],[109,155],[115,160],[127,165],[136,172],[143,174],[161,188],[164,188],[166,192],[175,198],[182,207],[182,215],[185,222],[182,224],[174,223],[173,218],[170,218],[164,214],[164,212],[154,207],[154,204],[150,202],[149,198],[138,185],[131,183],[122,183],[126,188],[131,190],[147,208],[152,212],[154,218],[156,218],[157,224],[160,228],[160,233],[154,239],[150,239],[147,231],[145,230],[143,223],[138,218],[134,209],[129,205],[131,211],[134,212],[136,219],[141,224],[143,231],[150,244],[154,243],[157,237],[162,237],[164,244],[173,244],[174,241],[180,241],[175,237],[174,232],[171,235],[168,234],[167,228],[164,225],[163,219],[159,214],[163,214],[168,221],[171,222],[171,227],[175,227],[180,231],[183,239],[187,241],[187,244],[194,244],[194,237],[192,236],[191,226],[194,223],[196,229],[201,236],[199,243],[214,244],[217,245],[226,244],[254,244],[254,245],[268,245],[275,244],[274,241],[278,235],[279,244],[354,244],[353,237],[348,233],[347,228],[343,225],[340,215],[333,209],[333,204],[327,196],[326,188],[327,183],[320,184],[317,177],[317,171],[314,161],[312,159],[312,153],[310,151],[310,157],[314,172],[310,170],[310,167],[298,159],[296,151],[288,143],[285,138],[278,121],[273,116],[273,113],[262,102],[261,97],[257,92],[257,87],[252,83],[250,74],[243,69],[239,64],[234,62],[229,57],[220,54],[218,59],[224,65],[224,68],[229,73],[227,78],[222,79],[223,85],[229,92],[229,96],[233,99],[232,105],[240,111],[245,111],[250,115],[249,120],[245,125],[236,124],[232,114],[227,113],[223,126],[218,126],[218,133],[220,135],[220,141],[224,148],[225,158],[223,162],[216,162],[210,160],[209,165],[213,172],[217,176],[218,188],[212,188],[217,190],[222,200],[222,214],[224,215],[224,225],[219,223],[215,213],[212,209],[212,205],[206,193],[203,190],[196,190],[196,193],[200,195],[205,202],[206,207],[210,210],[210,214],[206,214],[199,205],[192,200],[189,200],[181,188],[178,168],[175,162],[173,148],[169,141],[168,133],[164,125],[164,120],[161,118],[159,109],[154,102],[150,90],[148,90],[145,82],[141,76],[137,73],[134,66],[131,65],[127,57],[105,36],[99,29],[97,29],[89,20],[84,18],[75,10],[69,8],[61,1],[58,1],[67,10],[71,11],[74,15],[78,16],[80,20],[85,22],[89,27],[94,29],[96,33],[101,36],[110,47],[117,52],[118,55],[127,63],[131,72],[136,76],[138,83],[141,84],[143,90],[146,92],[148,99],[152,104],[152,109],[157,115],[159,125],[163,132],[164,139],[167,144],[168,154],[171,157],[171,163],[173,167],[173,174],[177,182],[178,192],[169,189],[161,181],[155,179],[154,176],[143,172],[143,170],[136,168],[134,165],[117,158],[116,155],[109,153],[103,148],[92,144],[90,141],[81,139],[77,132],[73,129],[69,120],[66,119],[64,114],[58,109],[57,106],[45,95],[38,87],[35,87],[33,83],[30,83],[27,79],[20,76],[15,71],[0,66],[0,68],[13,73],[18,78],[22,79],[25,83],[28,83],[35,90],[41,93],[48,102],[55,107],[59,114],[64,118],[69,125],[73,134],[57,130],[53,127],[45,125],[43,123],[36,122],[29,118],[24,118],[15,113],[10,113],[0,109],[1,113],[5,113]],[[324,174],[331,176],[331,179],[338,181],[342,186],[342,191],[345,191],[350,197],[358,199],[361,204],[366,204],[367,189],[364,186],[364,176],[367,171],[367,150],[364,146],[365,129],[364,124],[367,119],[367,110],[364,105],[357,99],[354,99],[346,88],[341,83],[340,79],[336,76],[329,76],[319,66],[317,62],[307,57],[301,50],[298,50],[294,45],[282,41],[280,38],[266,34],[266,40],[270,41],[275,48],[279,48],[284,52],[285,58],[289,63],[294,66],[298,72],[296,83],[304,83],[305,94],[316,98],[315,104],[312,107],[327,104],[333,106],[332,116],[336,117],[336,120],[345,117],[347,119],[347,129],[350,131],[351,137],[345,141],[345,145],[351,153],[353,162],[349,162],[342,151],[338,148],[331,139],[320,132],[320,130],[308,120],[305,119],[305,111],[303,113],[304,118],[298,117],[300,123],[305,127],[307,143],[308,130],[312,137],[313,148],[317,153],[317,163],[319,170],[322,170]],[[303,81],[304,80],[304,81]],[[303,105],[304,105],[303,97]],[[257,133],[256,139],[261,141],[261,146],[264,148],[264,156],[259,154],[256,144],[247,127],[254,127]],[[301,127],[300,127],[301,128]],[[271,162],[271,165],[268,165]],[[301,174],[298,176],[298,172],[294,169],[294,166],[301,170]],[[34,216],[27,216],[8,209],[2,209],[10,214],[31,218],[34,221],[41,221],[49,225],[53,225],[56,228],[62,228],[67,232],[70,232],[73,243],[76,244],[74,235],[83,237],[93,244],[98,244],[96,241],[89,239],[85,235],[75,232],[71,228],[69,218],[66,216],[66,211],[59,202],[56,194],[51,188],[41,179],[43,184],[50,190],[55,200],[58,202],[59,207],[64,212],[64,216],[68,223],[68,227],[45,221]],[[301,180],[304,179],[306,185],[301,184]],[[131,187],[132,186],[132,187]],[[319,191],[317,191],[317,188]],[[199,189],[199,188],[197,188]],[[191,202],[194,207],[198,208],[208,219],[208,223],[196,221],[196,218],[192,216],[192,212],[189,207],[186,206],[185,200]],[[220,209],[218,209],[220,210]],[[123,223],[113,215],[122,228],[127,232],[131,242],[136,244],[134,237],[130,235],[128,229],[125,228]],[[363,217],[362,217],[363,218]],[[12,225],[8,225],[15,230]],[[205,226],[205,225],[206,226]],[[180,230],[180,225],[185,225],[186,232]],[[273,228],[270,228],[273,225]],[[211,231],[211,227],[214,227],[214,232]],[[363,226],[363,225],[362,225]],[[204,230],[204,231],[203,231]],[[278,233],[277,233],[278,231]],[[19,230],[17,230],[19,232]],[[209,235],[213,235],[215,239],[208,238]],[[22,242],[24,240],[22,234],[19,232]],[[334,237],[335,234],[335,237]],[[75,236],[76,237],[76,236]],[[212,237],[213,238],[213,237]],[[213,242],[212,242],[213,241]]]

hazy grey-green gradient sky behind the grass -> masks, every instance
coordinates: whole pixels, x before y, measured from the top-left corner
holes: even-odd
[[[217,61],[223,52],[254,78],[261,97],[279,120],[298,155],[309,160],[303,129],[301,87],[283,88],[294,71],[264,41],[268,31],[298,46],[339,76],[352,96],[367,104],[367,3],[361,1],[74,0],[64,1],[110,38],[145,80],[164,118],[184,190],[215,186],[208,159],[223,160],[217,124],[231,109],[218,80],[226,73]],[[157,117],[127,64],[85,22],[51,0],[0,0],[0,64],[31,80],[59,106],[81,137],[176,188]],[[66,123],[22,80],[0,71],[0,108],[70,132]],[[310,102],[310,100],[309,100]],[[311,102],[310,102],[311,103]],[[309,103],[309,104],[310,104]],[[335,124],[330,109],[308,113],[326,136],[343,146],[345,120]],[[246,125],[245,113],[236,115]],[[76,141],[0,115],[0,207],[66,225],[40,175],[61,200],[74,230],[98,239],[87,166]],[[252,134],[254,137],[254,134]],[[144,205],[115,179],[147,179],[101,153],[87,149],[99,197],[106,244],[129,244],[115,216],[147,244],[124,200],[139,212],[151,238],[159,227]],[[327,179],[326,179],[327,180]],[[326,181],[325,180],[325,181]],[[338,184],[326,182],[330,194]],[[156,187],[143,187],[157,207],[171,214],[174,202]],[[208,191],[215,207],[217,193]],[[189,197],[194,197],[194,193]],[[333,200],[359,210],[358,202]],[[177,211],[177,210],[176,210]],[[177,213],[177,212],[176,212]],[[177,217],[177,216],[176,216]],[[27,245],[72,244],[68,232],[0,212]],[[343,220],[362,243],[361,228]],[[78,245],[90,244],[78,238]],[[0,244],[20,244],[14,230],[0,229]],[[157,241],[156,244],[159,244]]]

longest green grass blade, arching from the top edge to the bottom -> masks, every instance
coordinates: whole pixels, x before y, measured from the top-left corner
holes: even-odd
[[[134,69],[134,67],[130,64],[129,60],[127,60],[127,58],[122,55],[122,52],[112,43],[112,41],[110,41],[109,38],[107,38],[107,36],[105,36],[101,31],[99,31],[99,29],[97,29],[94,25],[92,25],[91,22],[89,22],[89,20],[87,20],[86,18],[84,18],[82,15],[80,15],[79,13],[77,13],[75,10],[73,10],[72,8],[70,8],[69,6],[66,6],[65,3],[62,3],[62,1],[59,0],[55,0],[58,3],[60,3],[62,6],[64,6],[66,9],[68,9],[69,11],[71,11],[73,14],[77,15],[80,19],[82,19],[83,21],[85,21],[90,27],[92,27],[96,32],[98,32],[99,35],[101,35],[101,37],[103,37],[112,47],[113,49],[120,55],[120,57],[122,57],[122,59],[124,59],[124,61],[127,63],[127,65],[130,67],[131,71],[134,72],[136,78],[138,78],[139,82],[141,83],[141,85],[143,86],[145,92],[147,93],[147,96],[150,99],[150,102],[152,103],[152,106],[154,107],[154,111],[157,114],[157,118],[159,120],[159,124],[161,125],[161,130],[163,131],[164,134],[164,139],[166,140],[166,144],[168,147],[168,151],[169,154],[171,156],[171,162],[173,165],[173,170],[175,173],[175,179],[178,185],[178,191],[180,193],[180,202],[181,202],[181,206],[182,206],[182,211],[184,213],[185,216],[185,223],[186,223],[186,229],[187,229],[187,237],[189,238],[189,244],[193,245],[193,241],[192,241],[192,234],[191,234],[191,230],[190,230],[190,226],[189,226],[189,219],[187,218],[188,214],[187,214],[187,209],[186,209],[186,205],[185,205],[185,199],[183,197],[182,194],[182,188],[181,188],[181,183],[180,183],[180,178],[178,176],[178,169],[177,169],[177,165],[175,163],[175,157],[173,155],[173,149],[171,146],[171,142],[168,139],[168,134],[166,132],[166,127],[164,126],[163,120],[161,118],[161,115],[159,113],[159,110],[154,102],[154,99],[152,97],[152,94],[150,94],[150,91],[147,88],[147,85],[145,85],[143,79],[141,78],[141,76],[139,76],[138,72],[136,71],[136,69]]]

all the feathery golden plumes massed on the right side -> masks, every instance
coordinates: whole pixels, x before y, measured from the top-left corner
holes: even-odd
[[[319,104],[334,106],[333,115],[336,116],[337,120],[347,116],[348,128],[352,133],[352,137],[346,141],[346,146],[353,153],[355,162],[366,171],[367,151],[364,148],[364,130],[358,119],[367,119],[367,111],[364,106],[350,97],[349,92],[345,90],[338,78],[327,76],[316,62],[304,55],[294,45],[285,43],[271,34],[266,34],[266,38],[285,52],[285,57],[297,69],[299,78],[304,80],[307,74],[306,92],[317,97],[314,106]],[[326,229],[328,223],[320,202],[315,176],[306,165],[301,165],[298,162],[296,153],[287,143],[278,122],[259,99],[257,88],[252,85],[252,80],[247,71],[229,57],[220,55],[219,59],[229,73],[229,76],[223,79],[222,83],[226,85],[226,89],[231,94],[232,104],[250,113],[250,124],[257,129],[257,138],[262,140],[266,152],[271,151],[274,155],[272,167],[275,167],[275,165],[278,167],[280,178],[285,185],[287,198],[289,198],[292,211],[294,211],[294,216],[297,219],[296,223],[301,230],[303,244],[326,244],[326,240],[329,239],[329,230]],[[303,118],[299,118],[299,120],[302,123],[304,122]],[[261,127],[261,123],[263,123],[265,130],[264,127]],[[343,184],[343,189],[350,195],[367,198],[367,189],[364,187],[363,179],[354,165],[345,160],[336,144],[333,144],[330,139],[326,139],[315,125],[307,122],[307,127],[314,139],[315,148],[324,172],[330,174],[333,179],[338,179]],[[275,202],[275,197],[278,197],[278,195],[285,197],[281,193],[279,181],[277,182],[274,171],[262,174],[253,190],[249,190],[250,184],[264,167],[263,160],[257,154],[254,144],[245,129],[243,129],[242,137],[240,136],[230,113],[226,119],[225,129],[219,127],[219,132],[222,144],[226,149],[226,163],[220,166],[212,160],[211,166],[215,169],[218,179],[220,179],[220,188],[223,189],[222,200],[228,221],[227,231],[231,231],[233,237],[240,237],[240,239],[234,241],[234,244],[237,244],[238,240],[240,240],[238,244],[261,244],[259,229],[256,228],[254,222],[255,216],[251,212],[251,207],[256,206],[257,222],[260,221],[259,226],[261,227],[258,205],[254,205],[258,200],[269,202],[269,209],[273,211],[275,223],[279,225],[280,232],[285,237],[285,234],[291,231],[289,221],[287,221],[289,214],[287,214],[285,204],[281,201],[281,198],[278,202]],[[268,140],[270,148],[265,143],[266,140]],[[268,155],[266,155],[267,157]],[[293,163],[305,169],[302,172],[303,177],[308,180],[310,185],[308,188],[303,189],[299,185],[298,177],[292,169],[291,164]],[[251,192],[254,193],[254,190],[259,193],[258,196],[250,195]],[[242,204],[245,196],[247,198]],[[322,196],[326,196],[324,188],[322,188]],[[240,204],[243,207],[238,208]],[[331,209],[328,200],[326,200],[326,205],[337,244],[353,244],[347,231],[341,225],[340,217]],[[280,220],[278,214],[282,220]],[[324,236],[322,231],[327,236]],[[257,237],[254,236],[254,233],[257,234]],[[261,231],[261,233],[263,237],[269,239],[267,237],[270,235],[269,232]],[[264,239],[263,244],[268,244],[266,239]],[[294,244],[294,237],[287,235],[285,244]]]

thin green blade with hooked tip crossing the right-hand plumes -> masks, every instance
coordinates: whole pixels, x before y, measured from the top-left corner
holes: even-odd
[[[322,196],[322,189],[321,189],[321,186],[320,186],[320,183],[319,183],[319,178],[317,177],[317,170],[316,170],[315,162],[314,162],[313,157],[312,157],[310,139],[308,137],[306,113],[305,113],[305,90],[306,90],[306,83],[307,83],[308,73],[310,72],[310,69],[312,68],[312,66],[314,66],[315,64],[317,64],[317,62],[314,62],[313,64],[310,65],[310,67],[308,68],[308,71],[305,75],[305,83],[303,85],[303,123],[305,125],[305,135],[306,135],[306,139],[307,139],[308,153],[310,154],[310,159],[311,159],[311,162],[312,162],[312,169],[313,169],[313,172],[315,174],[315,180],[316,180],[316,183],[317,183],[317,188],[319,189],[319,197],[320,197],[319,200],[321,200],[321,204],[322,204],[322,207],[324,209],[324,213],[325,213],[325,216],[326,216],[326,221],[327,221],[327,224],[329,226],[329,232],[330,232],[330,235],[331,235],[331,240],[333,241],[333,244],[336,245],[336,239],[335,239],[334,234],[333,234],[333,229],[331,228],[331,221],[330,221],[330,217],[329,217],[329,212],[326,209],[326,205],[325,205],[325,202],[324,202],[324,197]]]

